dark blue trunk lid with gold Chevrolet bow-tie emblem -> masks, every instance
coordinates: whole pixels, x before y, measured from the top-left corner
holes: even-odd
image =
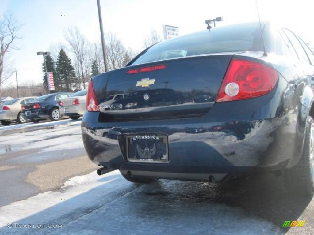
[[[100,121],[189,118],[209,112],[232,55],[191,56],[112,71],[93,79]],[[155,65],[165,68],[128,74]],[[111,102],[107,97],[124,94]]]

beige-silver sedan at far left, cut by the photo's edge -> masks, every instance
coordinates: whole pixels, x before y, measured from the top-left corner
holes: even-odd
[[[9,125],[11,122],[18,121],[25,123],[26,119],[21,115],[23,104],[32,102],[36,97],[23,97],[8,100],[0,106],[0,122],[2,125]]]

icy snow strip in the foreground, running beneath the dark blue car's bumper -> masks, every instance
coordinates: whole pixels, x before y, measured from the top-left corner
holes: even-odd
[[[0,234],[281,234],[240,208],[200,199],[210,184],[159,180],[136,185],[95,172],[0,208]],[[197,197],[191,194],[198,192]],[[206,197],[205,197],[206,198]],[[8,228],[8,223],[62,228]]]

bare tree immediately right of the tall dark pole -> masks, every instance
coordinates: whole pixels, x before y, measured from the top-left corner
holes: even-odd
[[[107,36],[107,61],[110,70],[123,67],[123,55],[125,53],[124,46],[116,34],[109,33]]]

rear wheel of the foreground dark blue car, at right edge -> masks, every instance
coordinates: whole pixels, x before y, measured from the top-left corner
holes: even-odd
[[[286,170],[285,183],[294,194],[313,195],[314,192],[314,121],[308,117],[302,156],[298,164]]]

